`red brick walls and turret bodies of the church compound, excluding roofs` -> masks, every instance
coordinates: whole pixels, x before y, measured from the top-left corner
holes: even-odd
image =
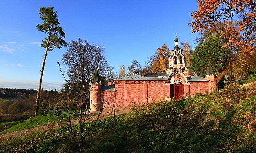
[[[184,74],[183,74],[184,75]],[[184,75],[185,76],[185,75]],[[131,104],[142,104],[154,100],[171,99],[171,80],[181,77],[180,74],[173,75],[169,80],[114,80],[114,91],[101,91],[102,85],[95,82],[91,84],[91,109],[100,109],[103,102],[114,101],[118,106],[129,106]],[[174,79],[173,79],[174,78]],[[167,79],[167,78],[166,78]],[[187,78],[186,78],[187,79]],[[182,95],[188,97],[196,93],[212,92],[216,90],[216,77],[206,77],[207,81],[182,81]],[[209,80],[209,81],[208,81]]]

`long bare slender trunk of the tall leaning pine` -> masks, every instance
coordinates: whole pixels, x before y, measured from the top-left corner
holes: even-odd
[[[49,33],[49,37],[48,37],[47,45],[46,45],[46,49],[45,49],[45,56],[44,56],[44,59],[43,59],[43,62],[42,62],[42,69],[41,69],[40,80],[39,80],[39,84],[38,84],[38,91],[37,91],[37,95],[36,95],[35,116],[38,115],[38,112],[39,112],[39,101],[40,101],[40,93],[41,93],[41,85],[42,85],[42,76],[43,76],[43,73],[44,73],[45,60],[46,60],[46,56],[47,56],[47,52],[48,52],[50,39],[51,39],[51,31]]]

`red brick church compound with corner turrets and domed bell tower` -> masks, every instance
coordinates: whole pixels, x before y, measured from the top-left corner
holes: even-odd
[[[186,67],[183,49],[175,47],[169,57],[169,68],[163,73],[147,74],[145,76],[129,73],[113,80],[111,85],[102,86],[97,70],[93,72],[91,82],[91,110],[100,109],[102,102],[118,103],[118,106],[128,106],[133,103],[142,104],[153,100],[194,96],[196,93],[216,90],[217,75],[209,62],[205,77],[190,75]]]

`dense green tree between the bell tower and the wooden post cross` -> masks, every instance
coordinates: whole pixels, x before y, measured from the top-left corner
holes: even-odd
[[[196,71],[200,76],[204,76],[209,61],[216,73],[223,69],[222,62],[226,51],[221,48],[221,39],[217,34],[210,35],[206,40],[201,40],[191,55],[191,70]]]

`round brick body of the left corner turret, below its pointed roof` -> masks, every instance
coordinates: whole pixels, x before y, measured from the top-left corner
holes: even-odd
[[[91,111],[97,111],[102,109],[102,84],[91,84],[90,100],[91,100]]]

